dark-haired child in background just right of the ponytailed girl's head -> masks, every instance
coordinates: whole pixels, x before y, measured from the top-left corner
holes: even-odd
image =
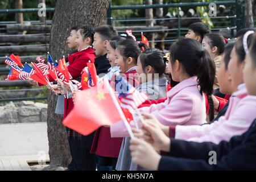
[[[216,76],[213,85],[213,89],[215,90],[220,87],[217,81],[217,73],[220,68],[220,61],[222,59],[222,53],[224,52],[226,42],[221,34],[210,33],[204,36],[202,45],[209,52],[210,56],[212,56],[215,64]]]

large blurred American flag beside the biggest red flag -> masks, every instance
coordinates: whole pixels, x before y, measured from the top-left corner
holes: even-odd
[[[130,112],[147,100],[146,94],[140,93],[119,74],[116,74],[115,77],[115,91],[119,94],[121,107],[129,109]]]

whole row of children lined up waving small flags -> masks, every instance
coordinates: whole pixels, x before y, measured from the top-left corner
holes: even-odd
[[[123,122],[88,136],[67,128],[68,170],[255,169],[256,34],[237,35],[228,43],[206,24],[193,23],[164,56],[112,26],[73,27],[67,38],[73,79],[81,81],[91,61],[98,80],[120,73],[148,100],[138,109],[143,119],[130,123],[135,138]],[[64,98],[63,83],[49,80],[48,89],[59,94],[55,113],[65,118],[76,92]],[[216,163],[209,162],[210,151]]]

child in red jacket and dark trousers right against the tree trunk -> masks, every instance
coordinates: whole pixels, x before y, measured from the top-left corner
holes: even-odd
[[[92,26],[82,26],[77,31],[75,43],[77,44],[78,52],[68,56],[69,65],[67,67],[74,80],[81,76],[82,69],[86,67],[86,63],[88,63],[88,61],[93,62],[96,58],[92,49],[93,33],[94,30]],[[72,109],[72,98],[65,98],[64,118],[67,117]],[[90,154],[93,134],[85,137],[76,131],[67,129],[67,135],[72,156],[72,162],[69,164],[68,169],[94,171],[96,169],[95,156]]]

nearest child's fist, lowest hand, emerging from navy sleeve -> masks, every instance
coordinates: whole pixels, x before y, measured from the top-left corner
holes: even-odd
[[[134,138],[130,140],[131,157],[139,166],[157,170],[161,156],[154,148],[143,139]]]

